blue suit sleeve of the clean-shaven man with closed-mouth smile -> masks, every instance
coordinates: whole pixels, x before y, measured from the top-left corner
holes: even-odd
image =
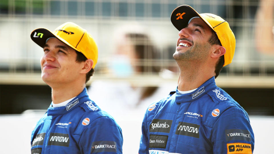
[[[79,140],[81,153],[122,154],[122,130],[113,119],[99,117],[87,126]]]

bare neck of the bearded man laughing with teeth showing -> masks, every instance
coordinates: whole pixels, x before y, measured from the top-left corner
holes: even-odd
[[[178,90],[180,91],[198,88],[215,75],[214,67],[209,67],[206,63],[201,62],[184,62],[179,65],[179,68]]]

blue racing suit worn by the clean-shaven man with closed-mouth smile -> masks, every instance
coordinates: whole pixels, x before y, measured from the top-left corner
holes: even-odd
[[[66,106],[48,108],[31,134],[31,153],[122,153],[122,130],[86,88]]]

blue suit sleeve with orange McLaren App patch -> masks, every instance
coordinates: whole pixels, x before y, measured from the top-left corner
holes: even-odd
[[[249,151],[248,145],[251,145],[253,153],[254,133],[247,113],[237,107],[225,110],[213,125],[211,143],[214,154],[235,153],[237,150],[242,150],[239,151],[242,153],[243,150]],[[251,151],[248,153],[251,154]]]

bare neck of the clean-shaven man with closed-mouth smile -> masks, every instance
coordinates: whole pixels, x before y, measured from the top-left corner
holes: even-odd
[[[51,99],[54,104],[62,103],[70,98],[78,96],[83,89],[86,87],[86,84],[69,84],[67,86],[54,86],[51,87]]]

